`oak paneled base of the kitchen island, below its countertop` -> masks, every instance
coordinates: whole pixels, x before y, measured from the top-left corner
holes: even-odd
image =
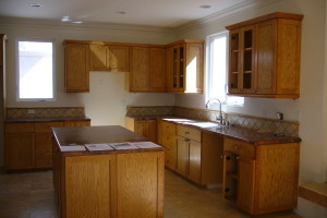
[[[164,179],[164,152],[71,157],[55,153],[61,218],[161,218]]]

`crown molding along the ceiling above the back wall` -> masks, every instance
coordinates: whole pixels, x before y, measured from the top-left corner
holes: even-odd
[[[41,20],[41,19],[21,19],[0,16],[0,26],[21,26],[21,27],[41,27],[41,28],[59,28],[59,29],[94,29],[94,31],[119,31],[119,32],[143,32],[154,34],[174,34],[174,29],[170,27],[157,27],[145,25],[126,25],[114,23],[98,23],[87,22],[82,24],[62,23],[56,20]]]

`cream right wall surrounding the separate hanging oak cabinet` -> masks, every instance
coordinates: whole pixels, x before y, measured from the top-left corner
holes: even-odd
[[[205,38],[225,31],[225,26],[266,13],[281,11],[304,14],[301,52],[301,97],[292,99],[245,98],[244,107],[225,107],[228,112],[276,118],[284,113],[286,120],[300,121],[301,159],[300,183],[325,182],[327,168],[327,134],[325,111],[326,95],[326,1],[280,0],[268,5],[247,8],[219,20],[190,25],[179,32],[179,37]],[[197,22],[201,23],[201,22]],[[325,94],[325,95],[324,95]],[[175,98],[178,106],[204,108],[205,95]],[[299,198],[298,213],[304,217],[327,217],[327,208]]]

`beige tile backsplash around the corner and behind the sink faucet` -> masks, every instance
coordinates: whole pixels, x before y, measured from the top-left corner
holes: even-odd
[[[184,108],[184,107],[133,107],[128,106],[126,116],[134,118],[145,117],[181,117],[194,120],[216,121],[219,111],[209,109]],[[240,113],[223,113],[223,118],[230,124],[263,132],[282,133],[287,136],[299,136],[299,122],[267,119]]]

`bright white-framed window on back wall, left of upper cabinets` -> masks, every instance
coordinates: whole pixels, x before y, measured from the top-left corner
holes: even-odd
[[[17,100],[53,100],[53,43],[17,41]]]

